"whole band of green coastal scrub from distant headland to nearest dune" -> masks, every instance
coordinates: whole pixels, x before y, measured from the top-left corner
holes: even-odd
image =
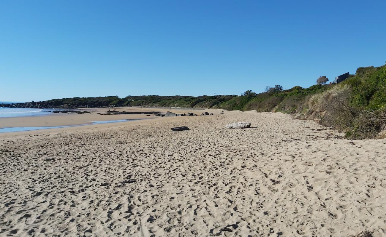
[[[386,137],[386,65],[359,67],[355,74],[339,84],[327,82],[328,78],[321,76],[316,85],[309,88],[294,86],[283,90],[280,85],[267,86],[262,93],[248,90],[240,96],[74,97],[0,104],[0,107],[161,106],[283,112],[298,119],[318,119],[327,126],[344,131],[349,139]]]

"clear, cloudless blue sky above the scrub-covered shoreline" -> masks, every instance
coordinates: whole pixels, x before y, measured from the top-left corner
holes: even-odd
[[[0,2],[0,101],[308,87],[386,61],[386,1]]]

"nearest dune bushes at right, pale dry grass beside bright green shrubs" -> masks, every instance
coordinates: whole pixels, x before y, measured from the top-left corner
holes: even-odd
[[[378,136],[386,129],[386,65],[359,67],[355,75],[303,101],[296,112],[298,118],[318,118],[344,131],[346,138]]]

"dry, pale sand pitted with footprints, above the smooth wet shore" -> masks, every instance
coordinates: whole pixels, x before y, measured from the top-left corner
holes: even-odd
[[[86,127],[0,137],[0,235],[386,235],[385,139],[237,111]]]

